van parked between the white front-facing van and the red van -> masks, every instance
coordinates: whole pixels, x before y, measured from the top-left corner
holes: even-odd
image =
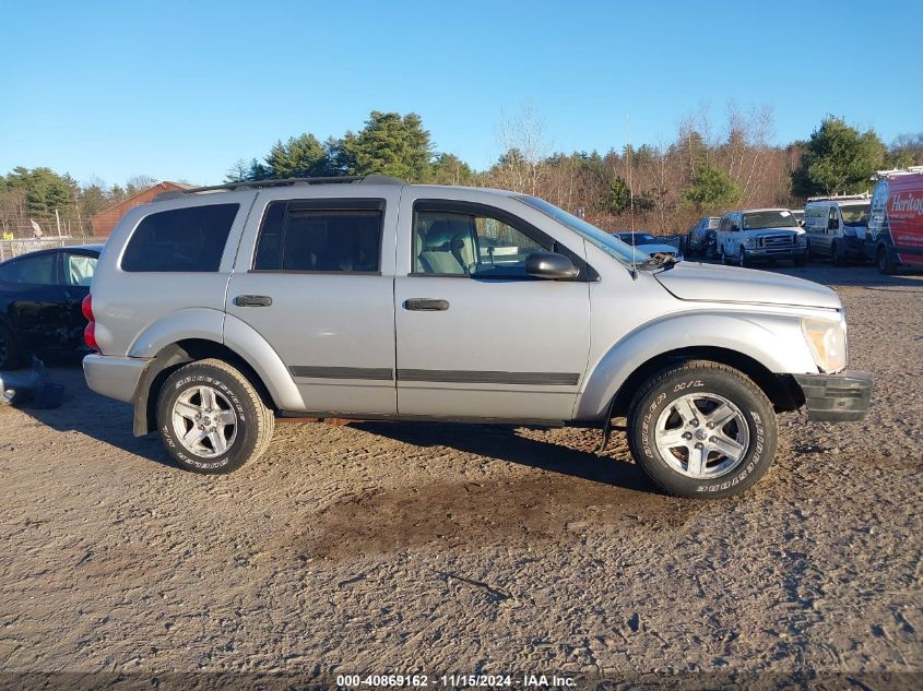
[[[862,261],[869,202],[867,194],[808,199],[804,207],[808,257],[829,257],[835,266],[850,259]]]

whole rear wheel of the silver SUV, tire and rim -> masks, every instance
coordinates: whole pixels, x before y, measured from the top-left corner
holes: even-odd
[[[193,473],[221,475],[257,460],[274,427],[273,412],[250,381],[223,360],[180,367],[157,395],[161,441],[181,468]]]

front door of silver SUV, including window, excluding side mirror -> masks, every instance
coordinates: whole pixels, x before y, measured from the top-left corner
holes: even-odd
[[[507,209],[401,200],[410,271],[394,282],[402,416],[568,420],[590,345],[583,241],[563,246]],[[405,235],[406,234],[406,235]],[[525,274],[532,252],[582,266],[575,279]],[[400,264],[399,264],[400,265]]]

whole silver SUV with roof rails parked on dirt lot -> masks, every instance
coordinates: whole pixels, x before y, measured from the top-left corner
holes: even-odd
[[[280,416],[603,429],[667,492],[745,489],[777,410],[861,419],[837,295],[655,260],[534,196],[382,176],[170,192],[84,306],[90,386],[176,462],[228,473]]]

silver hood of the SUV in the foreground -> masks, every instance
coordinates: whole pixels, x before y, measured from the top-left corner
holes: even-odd
[[[681,262],[654,276],[681,300],[842,307],[837,294],[826,286],[769,271]]]

